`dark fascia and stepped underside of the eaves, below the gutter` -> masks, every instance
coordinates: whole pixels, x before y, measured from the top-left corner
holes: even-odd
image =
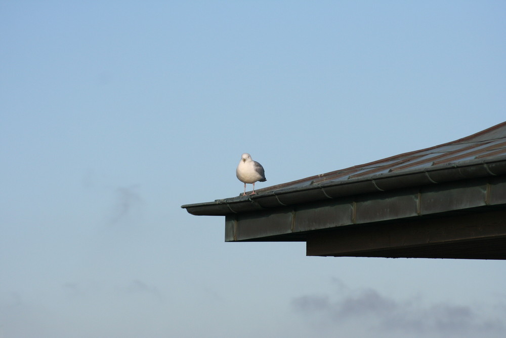
[[[228,214],[225,240],[305,241],[312,256],[506,259],[506,176]]]

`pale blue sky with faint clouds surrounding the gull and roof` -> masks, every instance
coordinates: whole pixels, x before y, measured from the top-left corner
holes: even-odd
[[[506,116],[506,3],[0,3],[0,337],[474,337],[502,261],[225,243],[182,204]]]

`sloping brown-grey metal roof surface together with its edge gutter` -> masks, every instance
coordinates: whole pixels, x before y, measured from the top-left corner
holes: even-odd
[[[410,186],[506,174],[506,122],[468,137],[238,196],[183,205],[194,215],[228,215]]]

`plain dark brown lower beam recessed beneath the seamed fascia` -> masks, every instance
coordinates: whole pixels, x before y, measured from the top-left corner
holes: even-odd
[[[307,255],[388,257],[386,250],[398,250],[398,257],[417,257],[418,250],[429,246],[453,243],[457,247],[463,241],[478,246],[482,240],[499,237],[506,237],[506,210],[314,231],[307,235]],[[469,258],[469,252],[460,254]],[[502,256],[506,258],[506,246]]]

